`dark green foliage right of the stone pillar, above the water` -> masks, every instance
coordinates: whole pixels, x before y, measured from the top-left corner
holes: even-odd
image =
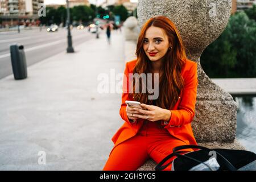
[[[256,23],[241,11],[201,55],[209,77],[256,77]]]

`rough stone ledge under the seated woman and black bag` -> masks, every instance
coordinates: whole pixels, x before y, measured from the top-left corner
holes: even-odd
[[[224,143],[224,142],[199,142],[197,143],[199,146],[204,146],[208,148],[226,148],[226,149],[234,149],[234,150],[246,150],[237,139],[234,140],[233,143]],[[154,160],[149,159],[146,163],[143,164],[137,171],[155,171],[156,163]]]

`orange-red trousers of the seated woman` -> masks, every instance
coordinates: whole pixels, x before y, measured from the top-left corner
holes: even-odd
[[[144,121],[137,135],[125,140],[114,148],[103,170],[135,171],[147,159],[151,158],[156,163],[159,163],[172,153],[172,148],[184,144],[186,143],[173,137],[159,122]],[[167,164],[174,158],[167,160],[164,164]],[[171,164],[164,170],[170,171]]]

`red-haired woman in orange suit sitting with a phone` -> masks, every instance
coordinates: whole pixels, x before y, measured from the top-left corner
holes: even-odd
[[[120,108],[125,122],[112,138],[114,147],[104,170],[134,171],[150,158],[159,163],[176,146],[197,144],[191,127],[198,85],[197,64],[187,59],[174,23],[165,16],[147,20],[138,38],[136,55],[136,60],[126,63]],[[132,92],[127,89],[131,73],[158,74],[158,97],[149,99],[151,94],[141,89],[134,92],[138,86],[142,88],[138,84]],[[127,106],[126,100],[141,102],[142,108]],[[165,170],[170,169],[171,165]]]

